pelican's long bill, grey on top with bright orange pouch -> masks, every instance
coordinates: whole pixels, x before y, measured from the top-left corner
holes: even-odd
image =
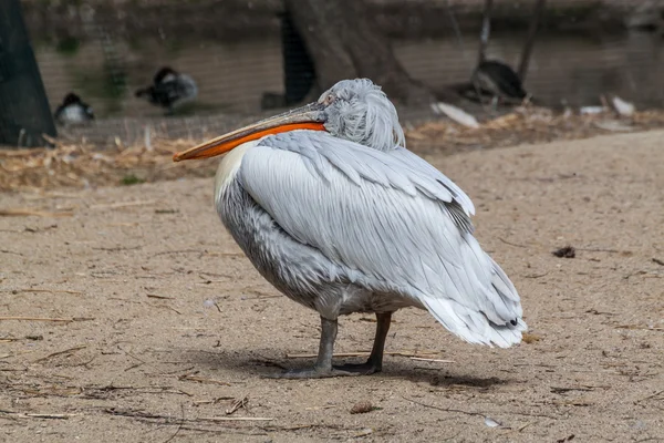
[[[320,103],[308,104],[262,120],[249,126],[229,132],[228,134],[208,140],[205,143],[194,146],[187,151],[176,153],[173,156],[174,162],[184,159],[209,158],[225,154],[243,143],[261,138],[266,135],[279,134],[294,130],[325,131],[323,105]]]

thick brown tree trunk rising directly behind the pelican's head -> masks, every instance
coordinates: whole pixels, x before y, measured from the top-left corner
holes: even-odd
[[[388,39],[373,28],[363,1],[286,0],[286,7],[313,59],[320,90],[343,79],[367,78],[397,102],[434,101],[398,63]]]

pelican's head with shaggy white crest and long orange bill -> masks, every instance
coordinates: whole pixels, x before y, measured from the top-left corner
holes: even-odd
[[[262,120],[174,155],[175,162],[207,158],[243,143],[294,130],[330,134],[378,151],[405,146],[392,102],[367,79],[342,80],[311,104]]]

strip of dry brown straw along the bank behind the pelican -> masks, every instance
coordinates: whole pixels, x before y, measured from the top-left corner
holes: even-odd
[[[541,107],[521,107],[484,122],[477,130],[448,120],[435,121],[406,132],[408,147],[421,153],[453,154],[463,151],[585,138],[608,132],[643,131],[664,126],[664,112],[635,113],[616,119],[611,112],[595,115],[554,114]],[[149,147],[136,145],[100,151],[85,143],[53,141],[55,148],[0,150],[0,190],[30,188],[133,185],[209,176],[217,161],[172,162],[173,154],[198,140],[155,140]]]

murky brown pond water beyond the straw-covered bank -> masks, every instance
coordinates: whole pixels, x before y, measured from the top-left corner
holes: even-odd
[[[573,106],[596,104],[614,93],[640,107],[664,106],[664,40],[650,33],[615,37],[541,35],[535,47],[527,90],[543,103]],[[467,81],[477,59],[477,38],[394,41],[398,60],[415,79],[434,89]],[[488,54],[516,66],[521,37],[491,37]],[[199,96],[191,112],[256,113],[263,92],[282,92],[281,45],[278,35],[237,43],[114,41],[63,51],[35,48],[51,107],[74,91],[100,117],[153,117],[162,111],[134,96],[162,65],[191,75]],[[104,55],[106,54],[106,55]],[[110,55],[113,55],[110,59]],[[121,60],[122,84],[108,74],[108,60]]]

